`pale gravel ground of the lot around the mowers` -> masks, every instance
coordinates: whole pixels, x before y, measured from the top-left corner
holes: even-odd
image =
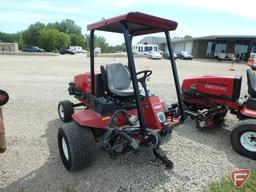
[[[96,58],[100,64],[126,63],[125,58]],[[175,101],[170,63],[137,58],[137,68],[152,69],[149,86],[167,103]],[[177,60],[180,80],[203,74],[243,75],[244,64],[208,60]],[[0,191],[205,191],[234,168],[253,168],[255,162],[236,154],[229,142],[230,128],[237,122],[228,115],[223,127],[197,130],[191,120],[175,128],[162,148],[174,162],[165,170],[151,153],[127,154],[111,160],[97,149],[89,168],[70,173],[62,165],[57,130],[61,122],[57,103],[71,99],[68,82],[89,69],[85,55],[40,57],[0,56],[0,86],[10,94],[4,107],[8,150],[0,154]]]

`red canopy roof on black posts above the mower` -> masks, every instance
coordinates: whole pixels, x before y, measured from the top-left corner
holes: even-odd
[[[140,12],[130,12],[125,15],[102,19],[102,21],[87,25],[87,30],[100,30],[123,33],[121,22],[126,22],[130,34],[145,35],[163,31],[173,31],[178,23],[172,20],[147,15]]]

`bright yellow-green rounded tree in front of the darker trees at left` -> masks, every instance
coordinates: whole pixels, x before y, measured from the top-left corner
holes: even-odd
[[[45,51],[53,51],[57,48],[59,31],[57,29],[44,28],[39,32],[39,47]]]

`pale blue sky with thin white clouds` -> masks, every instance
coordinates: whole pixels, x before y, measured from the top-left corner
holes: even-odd
[[[0,0],[0,31],[15,33],[37,21],[47,24],[69,18],[85,34],[90,23],[139,11],[178,22],[171,37],[256,35],[255,10],[255,0]],[[124,42],[119,34],[96,34],[111,45]],[[141,39],[136,37],[134,42]]]

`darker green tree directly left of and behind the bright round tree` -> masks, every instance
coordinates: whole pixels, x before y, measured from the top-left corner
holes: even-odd
[[[26,46],[39,46],[39,33],[45,28],[43,23],[32,24],[22,34]]]

